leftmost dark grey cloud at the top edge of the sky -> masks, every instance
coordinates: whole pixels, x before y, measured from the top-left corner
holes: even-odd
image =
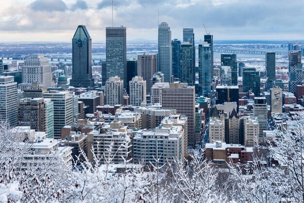
[[[67,5],[62,0],[35,0],[30,4],[30,8],[34,11],[65,11]]]

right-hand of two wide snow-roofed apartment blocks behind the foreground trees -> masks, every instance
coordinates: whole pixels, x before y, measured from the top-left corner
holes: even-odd
[[[164,124],[155,129],[138,130],[133,138],[133,158],[135,163],[159,165],[175,160],[183,161],[187,153],[186,120],[179,120],[180,115],[166,117]]]

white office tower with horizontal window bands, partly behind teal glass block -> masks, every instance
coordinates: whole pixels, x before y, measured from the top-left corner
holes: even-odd
[[[73,123],[73,98],[69,92],[49,91],[43,94],[54,104],[54,138],[61,138],[61,129]]]

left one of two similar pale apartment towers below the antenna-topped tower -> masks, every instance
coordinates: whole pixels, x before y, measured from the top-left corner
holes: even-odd
[[[110,77],[105,83],[105,97],[106,104],[115,106],[117,104],[122,105],[123,101],[123,81],[120,77]]]

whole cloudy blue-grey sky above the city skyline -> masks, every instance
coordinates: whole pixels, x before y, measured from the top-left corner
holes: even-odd
[[[5,1],[5,3],[3,3]],[[70,41],[86,25],[93,41],[105,40],[112,25],[112,0],[1,0],[0,41]],[[214,39],[304,39],[303,0],[114,0],[114,25],[127,40],[157,39],[159,22],[173,38],[183,28]]]

